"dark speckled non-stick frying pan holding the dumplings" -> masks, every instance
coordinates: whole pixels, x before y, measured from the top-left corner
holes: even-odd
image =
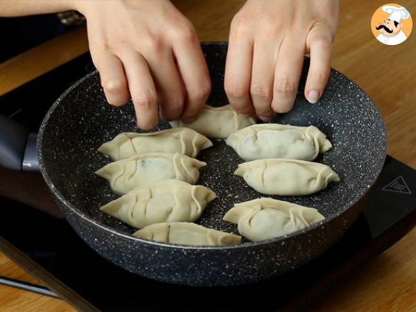
[[[208,104],[225,105],[223,73],[227,44],[202,43],[202,49],[213,83]],[[320,128],[333,148],[316,161],[331,166],[341,180],[312,196],[272,196],[315,207],[326,217],[306,229],[266,241],[243,241],[241,245],[224,247],[173,245],[133,237],[135,229],[100,211],[101,205],[116,196],[107,181],[94,175],[94,171],[110,162],[97,152],[98,146],[120,132],[141,130],[135,125],[132,105],[107,104],[97,72],[67,89],[46,114],[37,135],[40,171],[79,236],[98,254],[130,272],[194,286],[246,284],[276,277],[311,261],[340,239],[361,211],[364,195],[381,172],[386,153],[383,119],[365,92],[331,70],[324,95],[319,103],[311,105],[303,96],[308,68],[306,58],[295,107],[287,114],[279,114],[273,122]],[[27,140],[27,132],[10,123],[8,119],[0,123],[1,132],[8,133],[1,137],[5,147],[1,164],[36,169],[35,140]],[[10,127],[15,129],[10,131]],[[161,121],[157,129],[168,127]],[[237,233],[236,225],[222,220],[225,212],[234,202],[259,198],[261,194],[248,187],[241,177],[232,175],[243,160],[224,141],[214,141],[214,146],[202,151],[198,159],[208,164],[200,170],[199,184],[214,190],[218,198],[197,223]]]

